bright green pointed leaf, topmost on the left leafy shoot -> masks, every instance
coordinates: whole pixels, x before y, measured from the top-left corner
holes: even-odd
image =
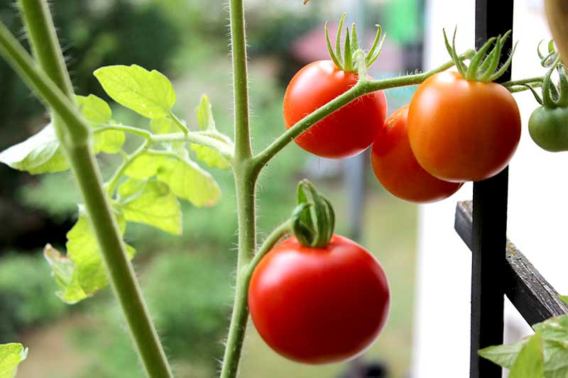
[[[114,101],[146,118],[163,118],[175,104],[172,83],[158,71],[115,65],[99,68],[94,76]]]

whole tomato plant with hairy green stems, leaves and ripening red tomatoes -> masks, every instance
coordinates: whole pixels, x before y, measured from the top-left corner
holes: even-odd
[[[376,140],[383,126],[382,91],[422,83],[408,110],[411,150],[401,131],[405,113],[396,114],[393,124],[398,127],[386,129],[392,135],[386,133],[376,141],[377,153],[383,143],[387,147],[392,143],[388,166],[393,171],[400,167],[397,164],[410,163],[412,152],[435,177],[457,182],[484,179],[507,164],[518,143],[520,123],[514,100],[505,87],[491,83],[510,63],[509,59],[497,69],[506,35],[491,38],[479,52],[469,50],[459,56],[446,40],[452,61],[429,72],[376,81],[368,77],[367,68],[381,51],[381,28],[367,53],[359,48],[355,26],[351,34],[348,29],[342,54],[341,33],[333,51],[326,26],[331,61],[313,62],[298,72],[284,99],[288,130],[254,153],[242,0],[229,0],[234,142],[217,130],[207,96],[197,107],[197,124],[192,127],[173,111],[176,95],[170,80],[137,65],[101,67],[94,75],[111,99],[146,118],[150,128],[147,124],[124,126],[114,120],[111,106],[103,99],[76,96],[47,0],[19,0],[19,5],[33,56],[1,22],[0,54],[48,105],[51,122],[1,152],[0,161],[31,174],[71,170],[84,204],[67,233],[67,252],[62,254],[50,245],[45,248],[57,294],[73,304],[111,284],[149,377],[173,377],[173,372],[131,265],[135,250],[123,236],[127,223],[133,222],[178,234],[180,200],[194,206],[220,201],[219,185],[198,162],[230,167],[234,175],[239,248],[220,376],[235,378],[249,307],[269,345],[309,363],[358,355],[376,338],[388,313],[389,289],[381,265],[360,245],[334,235],[332,206],[310,184],[300,185],[300,204],[292,219],[258,246],[256,183],[268,162],[292,140],[320,156],[355,155]],[[485,57],[491,43],[495,48]],[[470,60],[467,72],[464,60]],[[440,73],[453,65],[459,74]],[[510,86],[516,90],[516,84],[539,81],[511,82]],[[117,164],[107,182],[102,182],[99,152],[116,155]],[[414,165],[416,177],[420,177],[418,171]],[[420,201],[425,189],[433,195],[440,188],[436,182],[436,190],[430,191],[424,184],[427,179],[421,177],[423,181],[415,181],[408,194]],[[456,187],[459,184],[452,184]],[[290,230],[295,236],[278,244]],[[0,373],[13,375],[25,357],[20,344],[0,345],[0,360],[9,360]]]

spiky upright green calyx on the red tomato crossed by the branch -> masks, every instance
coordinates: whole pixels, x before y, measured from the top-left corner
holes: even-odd
[[[365,68],[371,67],[374,62],[376,62],[378,55],[381,54],[381,49],[383,48],[383,42],[385,41],[385,35],[381,38],[383,33],[383,28],[380,25],[376,25],[377,33],[375,35],[375,40],[373,45],[371,45],[371,50],[365,53],[359,48],[359,38],[357,37],[357,27],[353,23],[351,24],[351,34],[349,34],[349,28],[346,28],[344,51],[342,55],[341,50],[341,38],[342,38],[342,28],[345,21],[346,13],[343,13],[341,20],[339,21],[339,28],[337,28],[337,35],[335,38],[335,52],[332,48],[332,43],[329,40],[329,31],[327,30],[327,22],[325,23],[325,41],[327,43],[327,50],[329,51],[329,57],[337,66],[337,68],[345,72],[358,72],[356,64],[356,55],[363,54],[365,60]]]

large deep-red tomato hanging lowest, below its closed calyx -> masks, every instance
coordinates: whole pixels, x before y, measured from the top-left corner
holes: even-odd
[[[339,235],[325,248],[284,240],[263,257],[249,286],[251,317],[264,341],[308,364],[364,352],[383,328],[389,299],[376,258]]]

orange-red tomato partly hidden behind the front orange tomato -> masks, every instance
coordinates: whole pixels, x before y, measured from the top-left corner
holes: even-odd
[[[419,204],[454,194],[461,183],[437,179],[420,167],[408,141],[408,105],[395,111],[379,130],[371,150],[378,181],[394,196]]]

